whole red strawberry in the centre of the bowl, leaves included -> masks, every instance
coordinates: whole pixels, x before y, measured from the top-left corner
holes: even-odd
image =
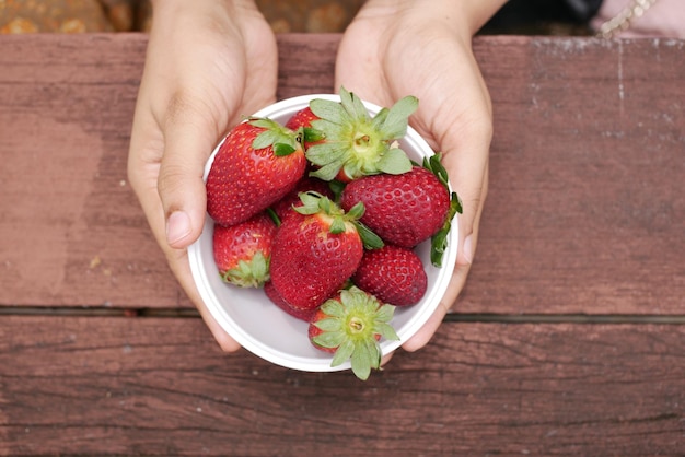
[[[313,309],[336,293],[361,261],[364,242],[356,220],[363,204],[345,213],[322,195],[304,192],[300,198],[298,214],[286,218],[274,238],[271,282],[291,306]]]

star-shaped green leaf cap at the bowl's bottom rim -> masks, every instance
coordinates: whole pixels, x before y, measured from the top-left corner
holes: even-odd
[[[324,302],[321,310],[327,317],[314,323],[322,332],[312,340],[323,348],[337,348],[330,366],[349,360],[352,373],[362,380],[369,378],[371,368],[381,367],[383,353],[376,336],[399,339],[390,324],[395,306],[353,285],[340,291],[338,298]]]

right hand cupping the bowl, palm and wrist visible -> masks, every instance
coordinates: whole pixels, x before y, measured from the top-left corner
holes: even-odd
[[[392,106],[419,98],[413,127],[443,153],[450,181],[463,201],[458,256],[450,286],[429,321],[403,348],[415,351],[436,332],[464,286],[478,238],[492,137],[490,97],[471,38],[502,0],[454,2],[370,0],[346,31],[336,86]]]

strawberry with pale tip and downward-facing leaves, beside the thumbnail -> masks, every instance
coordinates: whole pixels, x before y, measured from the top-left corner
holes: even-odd
[[[265,213],[231,226],[214,224],[213,255],[221,278],[241,288],[258,288],[269,279],[276,224]]]

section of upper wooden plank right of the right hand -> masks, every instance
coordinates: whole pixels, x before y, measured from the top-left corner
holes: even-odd
[[[495,138],[461,310],[683,313],[684,50],[682,40],[476,42]]]

